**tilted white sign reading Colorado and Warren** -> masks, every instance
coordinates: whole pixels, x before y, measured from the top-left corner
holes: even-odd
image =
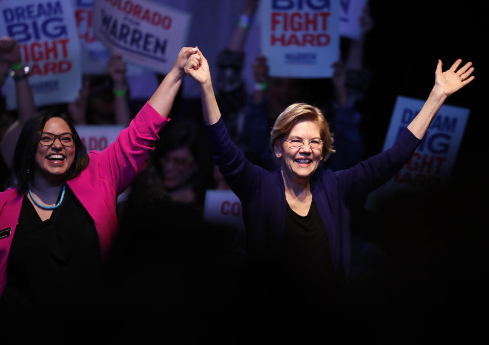
[[[185,45],[191,15],[153,2],[95,0],[97,38],[125,60],[168,73]]]

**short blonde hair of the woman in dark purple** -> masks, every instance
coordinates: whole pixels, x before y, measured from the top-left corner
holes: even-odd
[[[282,114],[279,115],[270,132],[270,145],[272,151],[275,150],[277,140],[285,139],[292,130],[292,127],[301,120],[310,120],[317,124],[321,140],[324,141],[324,146],[322,148],[323,159],[327,159],[331,153],[335,152],[333,149],[333,134],[330,131],[330,125],[318,108],[307,103],[290,104]]]

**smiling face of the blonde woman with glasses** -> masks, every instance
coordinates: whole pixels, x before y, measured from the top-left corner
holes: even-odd
[[[311,120],[298,121],[285,139],[321,139],[319,126]],[[286,141],[278,140],[275,155],[282,158],[282,171],[292,181],[303,184],[309,182],[322,160],[322,148],[312,149],[308,143],[301,148],[292,148]]]

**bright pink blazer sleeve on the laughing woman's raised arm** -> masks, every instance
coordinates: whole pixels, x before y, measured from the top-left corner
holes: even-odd
[[[117,195],[143,170],[159,139],[158,132],[168,121],[146,102],[115,142],[100,152],[100,176],[111,181]]]

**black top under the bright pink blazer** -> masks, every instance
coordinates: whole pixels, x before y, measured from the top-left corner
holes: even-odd
[[[100,262],[93,219],[68,186],[63,203],[44,222],[24,196],[1,307],[62,314],[83,306],[94,296]]]

